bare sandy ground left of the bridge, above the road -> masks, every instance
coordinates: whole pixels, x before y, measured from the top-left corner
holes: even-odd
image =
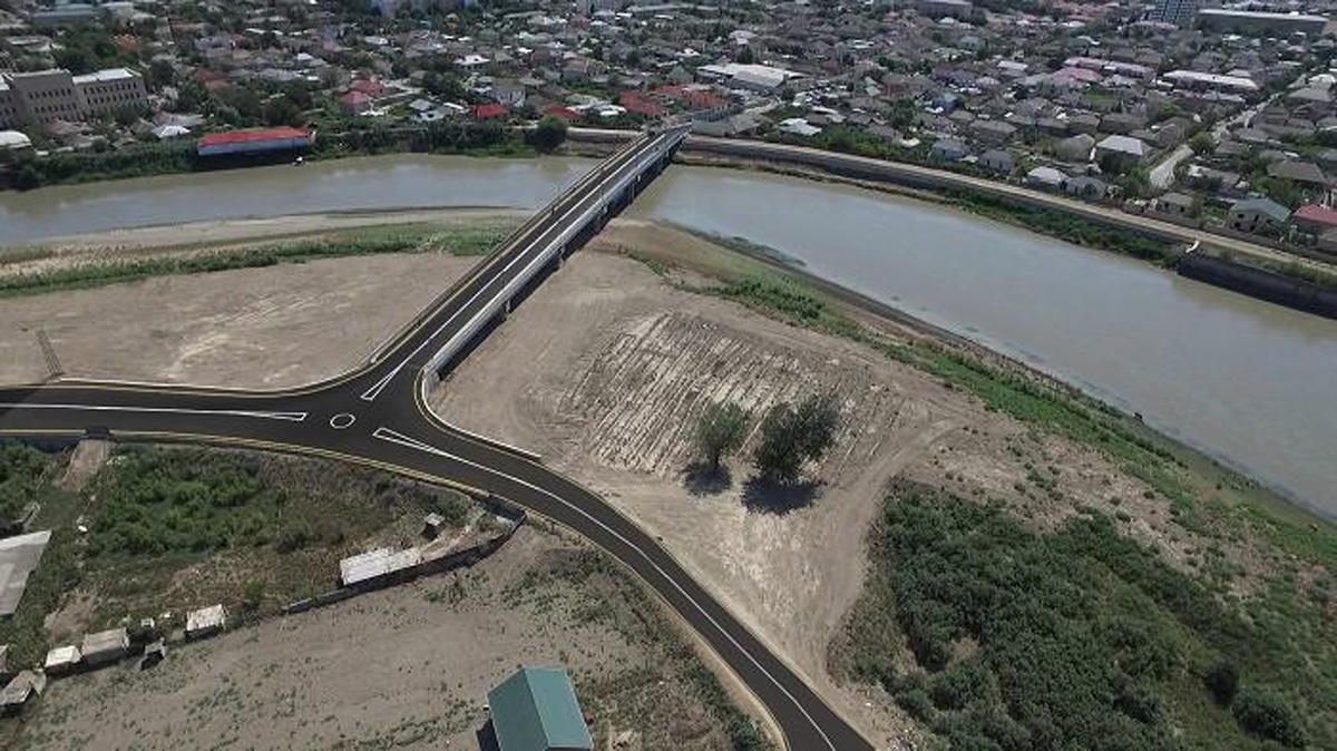
[[[0,384],[68,377],[277,389],[372,354],[477,258],[312,261],[0,299]]]

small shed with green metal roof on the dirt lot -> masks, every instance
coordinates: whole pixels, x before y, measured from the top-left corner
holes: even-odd
[[[501,751],[592,751],[567,671],[520,668],[488,692]]]

